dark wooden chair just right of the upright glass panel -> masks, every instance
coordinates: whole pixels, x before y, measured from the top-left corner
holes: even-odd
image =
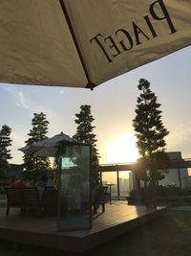
[[[93,209],[94,209],[94,214],[96,214],[97,209],[101,205],[102,207],[102,212],[105,212],[105,197],[107,193],[107,186],[99,186],[95,189],[93,193]]]

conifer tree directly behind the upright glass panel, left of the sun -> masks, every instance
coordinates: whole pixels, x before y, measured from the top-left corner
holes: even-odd
[[[92,115],[91,105],[81,105],[80,112],[75,114],[74,120],[77,124],[74,139],[79,142],[92,145],[92,185],[93,187],[99,183],[99,175],[97,172],[98,167],[98,151],[96,150],[96,134],[94,133],[94,126],[92,123],[95,118]]]

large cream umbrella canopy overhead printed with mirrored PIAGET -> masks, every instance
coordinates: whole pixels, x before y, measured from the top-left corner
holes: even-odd
[[[190,0],[1,0],[0,81],[95,87],[191,44]]]

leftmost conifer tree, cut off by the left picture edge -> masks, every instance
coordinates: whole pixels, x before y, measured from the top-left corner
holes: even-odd
[[[11,128],[4,125],[0,130],[0,178],[5,178],[11,157]]]

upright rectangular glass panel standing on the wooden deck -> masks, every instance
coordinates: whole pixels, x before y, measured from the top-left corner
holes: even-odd
[[[91,227],[90,146],[67,146],[61,158],[59,230]]]

